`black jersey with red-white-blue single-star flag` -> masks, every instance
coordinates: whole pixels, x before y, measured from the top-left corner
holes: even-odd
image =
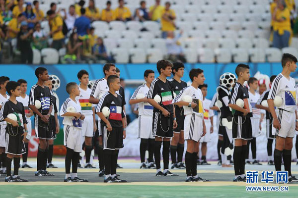
[[[110,92],[105,93],[98,102],[98,105],[95,109],[95,113],[101,112],[103,107],[108,107],[110,109],[109,122],[112,127],[122,127],[122,118],[125,117],[125,113],[123,111],[123,99],[117,94],[115,97]],[[101,120],[101,124],[106,125]]]

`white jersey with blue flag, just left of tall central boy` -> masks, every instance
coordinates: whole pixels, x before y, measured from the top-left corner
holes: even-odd
[[[148,92],[149,87],[147,85],[141,85],[136,89],[131,99],[136,99],[138,94],[144,94],[144,96],[147,97]],[[149,104],[148,102],[140,102],[138,103],[138,106],[139,115],[153,116],[153,106],[151,106],[151,104]]]

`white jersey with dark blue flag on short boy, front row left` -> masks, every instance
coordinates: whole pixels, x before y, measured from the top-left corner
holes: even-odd
[[[67,98],[61,108],[60,108],[60,116],[62,116],[63,114],[67,113],[67,107],[69,106],[72,106],[75,108],[76,112],[77,113],[81,113],[82,110],[81,110],[81,106],[79,105],[79,101],[78,100],[73,100],[71,98]],[[65,116],[62,116],[64,119],[63,119],[63,124],[64,125],[70,125],[70,126],[74,126],[74,127],[81,127],[81,120],[80,119],[77,119],[77,120],[74,120],[74,118],[72,117],[65,117]],[[77,123],[79,122],[79,123]]]

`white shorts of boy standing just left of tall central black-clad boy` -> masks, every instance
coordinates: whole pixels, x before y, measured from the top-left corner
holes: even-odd
[[[153,133],[152,133],[152,116],[149,116],[149,115],[139,116],[138,138],[154,139]]]

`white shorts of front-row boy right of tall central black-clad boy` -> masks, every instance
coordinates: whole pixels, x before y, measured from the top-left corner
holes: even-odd
[[[184,119],[184,140],[199,142],[203,135],[203,118],[192,113]]]

